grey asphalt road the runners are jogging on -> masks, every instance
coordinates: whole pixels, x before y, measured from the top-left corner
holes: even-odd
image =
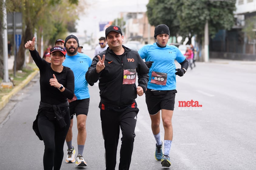
[[[92,56],[92,51],[85,53]],[[210,61],[196,62],[193,70],[188,69],[183,77],[176,78],[178,93],[172,119],[174,138],[170,168],[161,167],[154,158],[155,140],[145,96],[137,98],[140,112],[130,170],[256,169],[256,62]],[[89,86],[89,90],[91,98],[84,150],[88,166],[77,168],[74,164],[66,164],[63,159],[63,170],[105,169],[98,84]],[[6,106],[9,107],[9,116],[0,124],[1,170],[43,169],[44,145],[32,129],[39,101],[39,77],[36,76]],[[202,107],[179,107],[182,101],[187,104],[193,101]],[[74,118],[73,145],[77,149],[75,123]],[[161,125],[162,140],[163,137]],[[119,147],[120,144],[121,141]],[[64,155],[66,150],[64,145]],[[118,163],[119,153],[116,169]]]

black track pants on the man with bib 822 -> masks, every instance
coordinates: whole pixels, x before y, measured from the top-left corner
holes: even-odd
[[[130,168],[138,112],[138,108],[127,108],[122,112],[100,110],[105,144],[106,170],[115,170],[120,128],[122,131],[122,145],[119,170],[128,170]]]

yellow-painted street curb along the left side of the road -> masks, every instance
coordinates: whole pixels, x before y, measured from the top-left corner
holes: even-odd
[[[36,70],[32,72],[25,80],[23,80],[18,86],[12,89],[11,92],[9,92],[8,95],[4,95],[2,97],[2,100],[0,102],[0,110],[5,107],[5,105],[9,102],[10,98],[15,95],[17,92],[19,92],[22,88],[24,88],[39,72],[39,70]]]

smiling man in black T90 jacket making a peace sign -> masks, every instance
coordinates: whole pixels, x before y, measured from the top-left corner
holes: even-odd
[[[106,170],[116,167],[119,129],[122,131],[119,170],[130,168],[137,122],[137,95],[147,90],[148,72],[137,51],[123,46],[123,34],[119,26],[106,28],[106,51],[92,60],[86,72],[88,82],[99,80],[100,117],[105,144]],[[138,86],[135,81],[138,75]]]

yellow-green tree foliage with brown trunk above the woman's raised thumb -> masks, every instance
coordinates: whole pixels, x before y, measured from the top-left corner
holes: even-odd
[[[6,4],[7,12],[22,12],[22,39],[17,54],[16,70],[23,67],[24,44],[33,38],[35,31],[40,51],[41,36],[43,35],[47,44],[54,44],[59,36],[63,38],[68,23],[78,19],[78,10],[81,9],[78,0],[6,0]]]

